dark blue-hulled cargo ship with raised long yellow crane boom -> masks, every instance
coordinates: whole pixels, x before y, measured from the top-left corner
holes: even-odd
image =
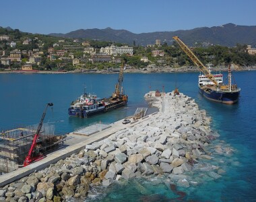
[[[238,88],[236,84],[232,84],[232,74],[230,70],[230,65],[228,66],[228,84],[223,84],[223,75],[212,74],[210,69],[207,69],[199,61],[199,59],[194,55],[192,50],[184,44],[184,42],[179,39],[178,36],[172,37],[176,40],[183,49],[183,51],[189,56],[189,58],[199,67],[199,69],[203,72],[203,75],[199,75],[198,86],[199,92],[207,99],[212,100],[214,102],[221,102],[224,104],[234,104],[238,102],[238,98],[240,96],[241,88]],[[210,65],[209,65],[210,67]]]

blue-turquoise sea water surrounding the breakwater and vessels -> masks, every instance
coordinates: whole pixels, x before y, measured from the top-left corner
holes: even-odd
[[[220,137],[207,148],[214,157],[201,160],[201,167],[185,173],[189,187],[172,184],[172,179],[133,179],[94,188],[86,201],[256,201],[256,71],[233,72],[241,98],[224,105],[203,98],[197,87],[199,73],[125,73],[123,89],[129,96],[124,108],[90,118],[69,117],[67,108],[84,91],[99,98],[111,96],[118,74],[40,74],[0,73],[1,131],[37,124],[48,102],[44,123],[55,125],[64,135],[94,123],[113,123],[134,114],[137,107],[148,107],[143,96],[152,90],[171,92],[175,87],[195,99],[200,109],[212,118],[211,127]],[[224,75],[226,73],[224,72]],[[216,148],[222,148],[220,150]],[[217,152],[218,151],[218,152]],[[221,169],[221,177],[207,174]],[[172,185],[170,185],[172,184]],[[75,201],[75,199],[73,199]]]

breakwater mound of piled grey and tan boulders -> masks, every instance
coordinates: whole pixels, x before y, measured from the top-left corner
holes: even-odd
[[[149,92],[145,97],[160,112],[128,124],[108,138],[85,145],[78,154],[2,187],[1,199],[84,198],[90,195],[91,187],[108,187],[135,177],[166,176],[171,190],[176,189],[174,186],[196,186],[198,182],[185,174],[199,160],[212,159],[205,147],[218,133],[210,128],[210,117],[183,94],[173,96],[172,92],[156,97],[154,92]],[[216,149],[231,152],[228,148]],[[211,178],[220,178],[224,172],[221,168],[207,169]]]

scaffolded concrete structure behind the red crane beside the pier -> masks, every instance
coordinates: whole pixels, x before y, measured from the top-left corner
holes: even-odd
[[[2,131],[0,136],[0,172],[8,173],[23,166],[30,150],[38,125],[18,127]],[[36,141],[36,150],[49,154],[63,146],[63,135],[55,135],[55,126],[43,124],[40,137]]]

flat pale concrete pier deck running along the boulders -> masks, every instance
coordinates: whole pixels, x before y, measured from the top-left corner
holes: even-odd
[[[20,168],[13,172],[9,172],[7,174],[1,175],[0,176],[0,187],[3,187],[6,184],[9,184],[15,180],[18,180],[24,176],[28,176],[29,174],[31,174],[34,171],[42,170],[42,169],[46,168],[47,166],[49,166],[50,164],[55,164],[59,160],[65,159],[65,158],[71,156],[71,154],[75,154],[75,153],[81,151],[82,149],[84,149],[86,147],[86,145],[88,145],[90,143],[94,143],[96,141],[100,141],[102,139],[105,139],[121,129],[133,127],[134,125],[137,125],[143,121],[151,119],[152,116],[154,116],[157,113],[158,112],[154,112],[153,114],[145,116],[145,117],[143,117],[143,119],[138,119],[137,121],[133,121],[131,119],[131,123],[128,123],[126,125],[124,125],[122,123],[123,120],[117,121],[115,123],[110,124],[110,127],[107,127],[106,129],[101,129],[97,133],[94,133],[93,135],[90,135],[90,136],[75,135],[73,133],[69,133],[69,135],[67,135],[66,145],[70,144],[70,146],[67,146],[64,149],[55,151],[55,152],[49,154],[48,156],[46,156],[46,158],[44,158],[38,162],[34,162],[33,164],[30,164],[29,166],[26,166],[24,168]]]

